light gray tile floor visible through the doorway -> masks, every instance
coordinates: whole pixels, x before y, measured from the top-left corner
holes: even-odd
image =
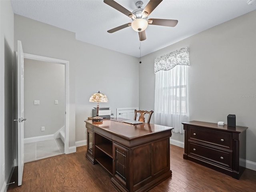
[[[30,162],[64,154],[64,143],[60,138],[24,144],[24,162]]]

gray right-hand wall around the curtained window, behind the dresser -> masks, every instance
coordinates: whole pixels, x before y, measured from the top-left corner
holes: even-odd
[[[228,114],[236,114],[236,125],[248,127],[246,160],[256,162],[255,18],[250,12],[144,56],[140,108],[154,109],[154,58],[188,46],[190,120],[226,124]],[[172,139],[184,142],[182,134]]]

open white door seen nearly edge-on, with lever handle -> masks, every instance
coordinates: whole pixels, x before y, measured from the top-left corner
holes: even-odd
[[[18,186],[22,184],[24,168],[24,53],[21,41],[18,41],[17,58],[17,82],[18,82]]]

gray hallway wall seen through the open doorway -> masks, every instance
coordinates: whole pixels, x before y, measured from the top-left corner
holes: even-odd
[[[34,105],[34,100],[40,100],[40,104]],[[57,132],[64,126],[65,107],[65,66],[25,58],[24,138]],[[45,131],[41,131],[42,126]]]

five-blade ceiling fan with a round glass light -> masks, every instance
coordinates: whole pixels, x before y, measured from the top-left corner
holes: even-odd
[[[116,32],[118,30],[124,29],[126,27],[132,26],[132,29],[136,32],[139,32],[140,41],[146,40],[146,32],[145,29],[150,25],[160,25],[160,26],[168,26],[175,27],[178,23],[178,20],[171,19],[148,19],[149,14],[162,2],[162,0],[150,0],[148,4],[143,9],[143,2],[136,2],[135,6],[136,10],[130,12],[114,0],[104,0],[104,3],[108,4],[112,8],[120,11],[121,13],[127,15],[132,19],[132,22],[126,23],[124,25],[118,26],[116,28],[108,30],[109,33]]]

